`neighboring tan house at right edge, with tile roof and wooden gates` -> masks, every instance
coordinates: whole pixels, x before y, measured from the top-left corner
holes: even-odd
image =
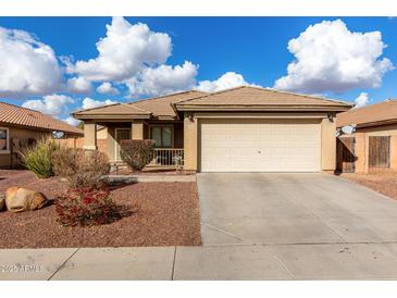
[[[368,173],[397,170],[397,100],[352,109],[337,115],[337,127],[357,125],[338,142],[338,170]]]

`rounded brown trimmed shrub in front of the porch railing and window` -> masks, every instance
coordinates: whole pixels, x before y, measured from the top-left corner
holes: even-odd
[[[120,156],[133,170],[140,171],[153,160],[154,141],[125,139],[121,141]]]

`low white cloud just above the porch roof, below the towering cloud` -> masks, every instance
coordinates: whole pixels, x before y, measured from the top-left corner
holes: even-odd
[[[131,96],[159,96],[194,88],[198,66],[189,61],[176,66],[147,67],[126,80]]]

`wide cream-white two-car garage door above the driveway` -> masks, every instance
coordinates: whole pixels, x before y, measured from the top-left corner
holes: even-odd
[[[202,172],[318,172],[320,120],[202,120]]]

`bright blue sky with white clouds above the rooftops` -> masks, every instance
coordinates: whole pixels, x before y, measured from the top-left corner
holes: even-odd
[[[332,26],[332,23],[319,27],[320,33],[307,32],[311,25],[335,20],[342,20],[347,33],[340,26]],[[103,104],[106,103],[104,100],[108,100],[108,103],[131,101],[136,98],[178,91],[191,87],[219,90],[241,82],[263,87],[276,86],[293,91],[319,94],[349,101],[355,101],[360,94],[364,92],[364,103],[374,103],[386,98],[397,98],[397,70],[394,70],[394,66],[397,66],[396,18],[125,17],[117,25],[114,33],[117,36],[114,37],[113,35],[107,41],[104,46],[107,53],[103,54],[103,60],[88,63],[90,59],[98,60],[96,44],[107,36],[106,25],[111,23],[111,17],[1,17],[0,27],[8,29],[2,38],[7,39],[5,42],[10,40],[12,42],[7,44],[11,45],[8,48],[1,46],[0,33],[0,53],[8,51],[5,55],[1,54],[3,58],[0,55],[0,77],[5,75],[8,79],[1,82],[0,78],[1,100],[49,112],[64,120],[71,111],[83,107],[85,98],[91,100],[86,102],[85,108],[87,108]],[[132,37],[129,39],[120,37],[129,28],[129,25],[134,26],[137,23],[146,24],[148,27],[146,34],[142,35],[144,37],[139,37],[141,40],[135,40],[136,42],[132,40],[134,35],[129,36]],[[35,45],[36,41],[32,41],[26,37],[15,37],[14,32],[10,32],[13,29],[28,33],[39,45]],[[333,33],[328,35],[326,30],[333,30]],[[298,50],[295,54],[288,51],[288,41],[298,38],[305,32],[307,32],[308,39],[299,40]],[[371,36],[369,38],[363,36],[373,32],[379,32],[382,36]],[[356,40],[356,37],[351,37],[350,33],[358,33],[358,40]],[[162,34],[162,36],[159,37],[156,34]],[[140,52],[135,50],[137,42],[149,40],[145,39],[146,35],[159,38],[157,42],[160,44],[146,46],[147,48]],[[330,40],[334,38],[333,36],[336,36],[336,40],[340,38],[340,44],[351,44],[346,51],[350,51],[351,57],[359,57],[368,65],[364,62],[351,64],[350,59],[349,64],[346,64],[348,71],[345,75],[340,77],[334,74],[331,75],[333,73],[332,67],[339,67],[342,63],[346,62],[338,60],[339,57],[342,57],[342,60],[346,60],[344,49],[339,49],[340,53],[335,54],[333,58],[335,61],[330,60],[327,62],[330,65],[317,70],[317,60],[310,58],[310,51],[314,53],[319,51],[319,45],[314,45],[315,42],[312,41],[318,38],[315,35],[319,35],[319,37],[328,35]],[[121,39],[117,39],[119,37]],[[128,35],[125,38],[128,38]],[[50,47],[52,58],[55,61],[48,64],[48,61],[44,62],[41,59],[36,59],[35,54],[27,52],[26,59],[32,59],[32,61],[26,62],[23,57],[25,51],[20,53],[13,50],[12,47],[20,45],[16,45],[15,40],[22,44],[25,42],[25,46],[30,45],[33,49]],[[117,40],[122,40],[120,45]],[[326,44],[327,39],[325,37],[324,40]],[[333,40],[335,41],[335,39]],[[128,45],[126,46],[126,44]],[[387,47],[383,49],[381,47],[381,53],[367,55],[367,52],[379,52],[380,45],[387,45]],[[357,49],[352,49],[352,47],[357,47]],[[48,50],[48,48],[46,49]],[[120,60],[111,61],[113,69],[108,72],[104,67],[109,65],[109,55],[119,50],[121,51],[119,53]],[[320,51],[322,50],[320,49]],[[338,49],[335,49],[335,51],[337,52]],[[275,85],[278,78],[288,75],[287,66],[294,60],[297,60],[299,53],[305,57],[298,65],[299,70],[291,73],[288,82]],[[12,54],[15,54],[15,58]],[[125,60],[123,55],[125,55]],[[65,62],[63,57],[69,57],[69,62]],[[133,61],[128,60],[129,57],[134,57]],[[327,60],[328,57],[330,52],[325,50],[323,55],[315,59]],[[3,67],[1,67],[2,59],[8,59],[9,62]],[[368,60],[371,59],[372,61],[369,62]],[[389,61],[384,61],[384,59]],[[82,65],[78,65],[77,61],[82,62]],[[128,62],[124,63],[124,61],[129,61],[129,64]],[[185,61],[190,64],[184,64]],[[20,65],[20,63],[26,64]],[[310,63],[314,63],[314,66],[309,65]],[[57,66],[54,66],[55,64]],[[66,67],[66,65],[69,66]],[[178,70],[175,70],[176,65],[179,65]],[[41,66],[42,71],[37,74],[28,74],[32,67],[40,67],[39,70],[41,70]],[[124,67],[124,71],[117,73],[119,66]],[[13,67],[16,71],[10,74],[7,69],[13,70]],[[59,69],[53,70],[53,67]],[[362,70],[351,70],[353,67],[362,67]],[[100,72],[103,70],[107,74],[102,77]],[[27,72],[26,75],[24,71]],[[323,79],[317,82],[314,78],[305,77],[308,72],[310,74],[314,73]],[[363,73],[364,77],[360,76],[360,72]],[[372,72],[374,73],[372,74]],[[224,77],[224,82],[218,80],[227,73],[229,75]],[[39,79],[41,75],[42,80],[59,77],[57,82],[51,82],[49,86],[42,86],[42,80]],[[164,75],[168,76],[168,80],[163,78]],[[327,77],[328,75],[330,77]],[[22,80],[24,84],[17,85],[10,90],[7,83],[20,82],[20,76],[24,76]],[[297,79],[295,76],[300,78]],[[87,90],[82,92],[67,87],[67,79],[78,77],[83,77],[86,85],[91,86],[90,91],[88,91],[88,87]],[[96,88],[103,82],[109,83],[112,89],[108,88],[104,94],[100,94]],[[175,86],[173,86],[174,83]],[[29,88],[26,87],[27,85]],[[63,87],[60,87],[61,85]],[[153,85],[156,86],[153,87]],[[119,91],[116,92],[113,88]],[[47,101],[45,100],[46,96]],[[57,105],[57,102],[62,104]]]

